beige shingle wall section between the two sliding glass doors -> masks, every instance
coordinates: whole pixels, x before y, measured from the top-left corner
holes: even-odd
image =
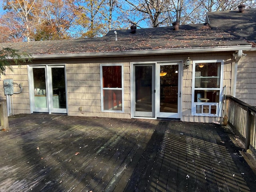
[[[66,64],[68,115],[131,118],[130,63],[118,62],[124,65],[124,112],[101,112],[100,64]],[[79,107],[82,111],[78,110]]]

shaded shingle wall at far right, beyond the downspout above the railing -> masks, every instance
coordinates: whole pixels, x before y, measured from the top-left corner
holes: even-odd
[[[256,106],[256,51],[244,53],[237,67],[236,98]]]

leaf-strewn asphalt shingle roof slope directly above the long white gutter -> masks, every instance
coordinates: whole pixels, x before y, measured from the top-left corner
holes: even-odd
[[[110,31],[100,38],[2,43],[0,47],[37,55],[248,45],[228,32],[211,29],[206,24],[183,25],[179,31],[174,31],[173,27],[159,27],[137,29],[135,34],[130,30],[116,32],[117,41],[114,31]]]

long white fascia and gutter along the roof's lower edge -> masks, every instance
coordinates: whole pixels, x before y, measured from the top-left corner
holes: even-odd
[[[172,48],[161,50],[129,50],[118,52],[85,52],[72,54],[38,54],[32,55],[32,59],[47,59],[47,58],[79,58],[79,57],[106,57],[106,56],[140,56],[140,55],[155,55],[155,54],[175,54],[175,53],[202,53],[202,52],[219,52],[219,51],[237,51],[251,50],[251,45],[241,46],[212,46],[212,47],[195,47],[195,48]]]

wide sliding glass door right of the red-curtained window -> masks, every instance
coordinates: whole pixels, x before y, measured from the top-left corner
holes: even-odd
[[[182,62],[134,63],[133,117],[180,118]]]

